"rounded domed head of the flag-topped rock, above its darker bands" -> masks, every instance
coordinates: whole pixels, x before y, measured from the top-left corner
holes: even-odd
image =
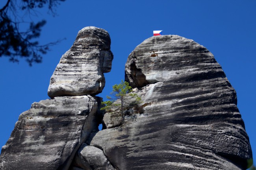
[[[178,35],[160,35],[144,40],[130,53],[125,64],[125,81],[136,88],[211,70],[224,75],[204,46]]]

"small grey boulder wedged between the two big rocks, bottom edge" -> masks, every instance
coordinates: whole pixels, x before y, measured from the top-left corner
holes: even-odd
[[[115,170],[102,150],[83,144],[74,158],[75,165],[84,170]]]

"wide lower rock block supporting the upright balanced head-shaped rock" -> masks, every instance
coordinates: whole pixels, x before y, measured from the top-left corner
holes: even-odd
[[[96,97],[74,96],[34,102],[22,113],[0,155],[1,170],[67,170],[92,131]]]

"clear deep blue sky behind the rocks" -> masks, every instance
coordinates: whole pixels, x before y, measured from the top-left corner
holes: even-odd
[[[57,8],[56,17],[39,11],[39,17],[47,20],[40,42],[66,39],[52,47],[43,63],[32,67],[23,60],[13,64],[0,58],[0,146],[9,139],[20,113],[33,102],[49,98],[50,77],[78,31],[96,26],[109,32],[114,54],[112,70],[105,73],[106,86],[98,95],[105,100],[113,84],[124,79],[128,55],[153,30],[193,39],[208,48],[237,92],[237,105],[256,158],[255,9],[256,0],[67,0]]]

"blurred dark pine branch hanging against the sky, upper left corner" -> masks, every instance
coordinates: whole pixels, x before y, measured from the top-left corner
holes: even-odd
[[[40,63],[42,55],[49,51],[49,47],[58,44],[61,40],[39,45],[35,39],[40,37],[46,21],[24,22],[24,16],[32,16],[31,10],[37,16],[35,8],[42,8],[47,4],[54,16],[54,8],[63,1],[65,0],[21,0],[22,3],[17,5],[16,0],[8,0],[6,5],[0,9],[0,57],[9,57],[11,62],[19,62],[19,58],[26,58],[30,66],[32,63]],[[24,15],[21,16],[21,13]],[[26,23],[27,30],[20,31],[19,26]]]

